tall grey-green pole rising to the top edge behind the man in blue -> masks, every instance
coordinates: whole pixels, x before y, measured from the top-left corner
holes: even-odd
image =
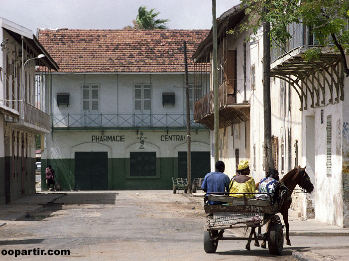
[[[217,61],[217,23],[216,0],[212,0],[212,31],[213,31],[213,100],[214,100],[214,134],[215,134],[215,163],[219,160],[219,104],[218,104],[218,61]]]

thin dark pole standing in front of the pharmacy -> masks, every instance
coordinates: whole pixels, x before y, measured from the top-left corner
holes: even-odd
[[[188,80],[188,61],[187,61],[187,42],[183,41],[184,52],[184,70],[185,70],[185,100],[187,108],[187,179],[188,193],[192,193],[192,153],[191,153],[191,134],[190,134],[190,104],[189,104],[189,80]]]

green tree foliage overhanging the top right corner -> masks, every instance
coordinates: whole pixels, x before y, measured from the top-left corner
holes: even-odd
[[[285,44],[293,37],[287,25],[305,24],[320,47],[335,45],[349,76],[346,63],[346,54],[349,54],[349,0],[242,0],[241,4],[247,6],[245,13],[248,15],[243,29],[252,29],[256,33],[264,21],[269,22],[271,38],[278,44]],[[320,49],[315,49],[304,54],[305,60],[319,55]]]

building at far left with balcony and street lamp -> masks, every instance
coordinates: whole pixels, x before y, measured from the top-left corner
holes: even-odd
[[[36,192],[35,140],[51,130],[50,74],[58,66],[29,29],[1,17],[0,28],[0,204],[5,204]]]

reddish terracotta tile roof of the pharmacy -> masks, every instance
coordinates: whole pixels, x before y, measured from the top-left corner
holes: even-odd
[[[40,29],[38,40],[59,72],[184,73],[183,50],[190,57],[210,30]]]

